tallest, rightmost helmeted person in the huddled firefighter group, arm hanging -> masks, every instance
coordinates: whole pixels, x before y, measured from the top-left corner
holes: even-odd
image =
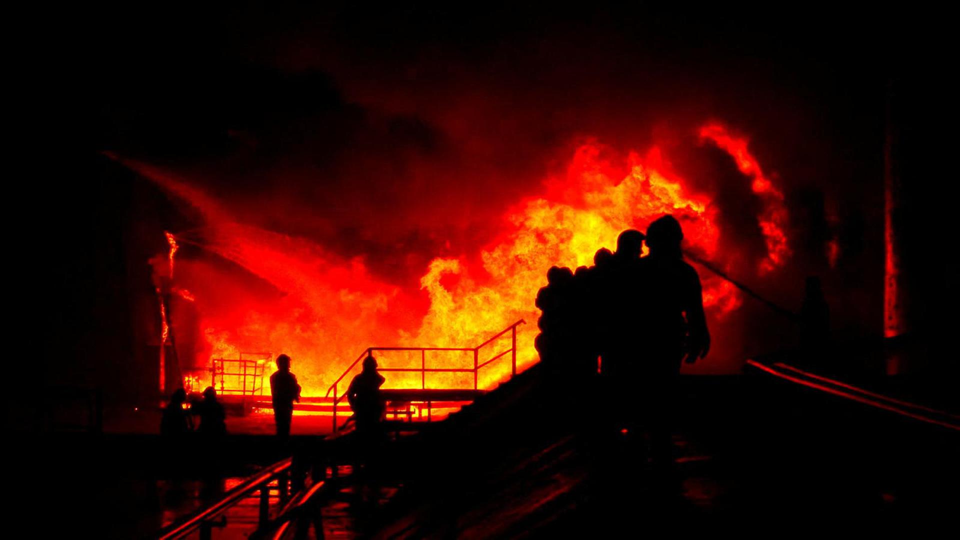
[[[671,420],[683,359],[707,356],[710,334],[704,315],[700,277],[684,262],[680,223],[664,215],[647,228],[650,255],[641,259],[645,284],[643,343],[639,386],[641,416],[650,433],[652,456],[672,463]]]

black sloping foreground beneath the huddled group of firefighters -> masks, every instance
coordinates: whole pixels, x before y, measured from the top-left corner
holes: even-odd
[[[396,443],[386,470],[402,487],[367,532],[918,532],[960,508],[960,432],[762,375],[684,378],[674,406],[661,469],[636,433],[600,428],[602,396],[558,396],[534,368]]]

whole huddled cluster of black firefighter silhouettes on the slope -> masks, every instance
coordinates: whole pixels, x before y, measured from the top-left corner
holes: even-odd
[[[536,344],[547,373],[564,374],[553,380],[567,386],[586,383],[600,356],[608,428],[646,431],[660,464],[672,462],[681,364],[707,356],[710,346],[700,277],[684,262],[683,238],[680,223],[664,215],[646,234],[620,233],[616,252],[598,251],[591,268],[551,268],[537,296]],[[644,240],[650,253],[641,258]]]

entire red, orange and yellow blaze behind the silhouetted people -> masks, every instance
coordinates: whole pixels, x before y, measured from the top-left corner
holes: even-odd
[[[757,221],[768,248],[757,264],[763,272],[776,269],[790,255],[782,193],[747,152],[745,139],[717,124],[705,126],[699,135],[730,153],[753,182],[764,203]],[[414,290],[374,275],[363,257],[344,258],[306,238],[240,223],[191,184],[143,163],[124,162],[204,215],[204,227],[178,233],[176,239],[168,233],[171,274],[179,240],[232,261],[276,291],[253,293],[220,276],[200,286],[194,282],[195,294],[181,292],[195,299],[201,313],[207,347],[198,363],[245,352],[286,353],[293,357],[305,395],[323,395],[367,347],[473,347],[519,319],[531,323],[517,333],[522,370],[538,360],[534,300],[550,266],[590,265],[599,248],[615,247],[620,232],[644,230],[664,213],[681,221],[685,249],[702,258],[716,260],[723,234],[710,195],[693,191],[659,147],[624,155],[591,141],[574,152],[564,174],[543,183],[542,193],[491,216],[500,220],[500,233],[480,253],[434,258],[423,268],[420,290]],[[179,264],[180,276],[209,271],[201,261]],[[739,307],[741,298],[732,284],[705,272],[701,277],[708,317],[722,319]],[[508,333],[494,344],[492,354],[509,348],[509,339]],[[467,356],[431,354],[426,363],[472,367],[472,355]],[[385,354],[380,365],[419,367],[420,354]],[[491,387],[510,371],[509,356],[501,358],[480,373],[479,383]],[[430,374],[426,383],[472,387],[472,375]],[[391,374],[386,387],[415,384],[420,385],[419,374],[410,380]]]

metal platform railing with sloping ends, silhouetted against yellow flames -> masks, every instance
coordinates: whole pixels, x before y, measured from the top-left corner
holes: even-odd
[[[476,347],[369,347],[360,356],[357,356],[357,359],[353,360],[353,363],[349,365],[347,371],[343,373],[337,380],[333,381],[333,384],[330,384],[330,387],[326,389],[326,397],[330,396],[330,393],[333,393],[333,430],[338,430],[337,425],[337,405],[344,400],[346,394],[338,394],[339,385],[356,367],[360,364],[361,361],[368,355],[372,355],[373,351],[406,351],[406,352],[420,352],[420,367],[416,368],[378,368],[377,371],[381,373],[420,373],[420,389],[426,390],[426,375],[428,373],[471,373],[473,374],[473,390],[479,390],[479,373],[480,370],[490,365],[493,361],[502,358],[503,356],[511,355],[511,377],[516,375],[516,327],[526,324],[526,321],[520,319],[516,323],[510,325],[504,330],[496,333],[490,339],[484,341]],[[511,333],[511,346],[509,349],[502,351],[484,361],[480,361],[480,350],[488,345],[492,344],[494,341],[505,335],[507,332]],[[428,368],[426,367],[426,354],[427,352],[461,352],[461,353],[473,353],[473,367],[472,368]]]

